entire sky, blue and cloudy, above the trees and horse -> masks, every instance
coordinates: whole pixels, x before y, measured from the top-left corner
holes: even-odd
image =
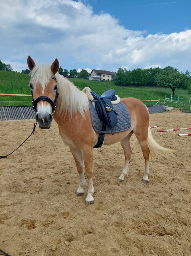
[[[190,0],[0,0],[0,59],[13,70],[191,71]]]

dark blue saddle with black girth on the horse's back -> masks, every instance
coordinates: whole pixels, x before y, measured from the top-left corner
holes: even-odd
[[[104,142],[104,131],[106,131],[107,125],[111,127],[111,134],[113,134],[112,128],[117,123],[118,113],[113,108],[111,101],[116,100],[117,97],[115,95],[114,89],[106,91],[101,96],[96,94],[94,91],[91,91],[91,95],[93,96],[93,102],[95,102],[95,108],[98,113],[98,117],[103,122],[102,133],[99,134],[98,142],[94,146],[94,148],[98,148],[101,147]]]

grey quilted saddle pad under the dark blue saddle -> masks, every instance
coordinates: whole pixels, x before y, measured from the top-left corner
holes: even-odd
[[[91,113],[91,123],[93,126],[93,129],[98,134],[102,132],[102,125],[103,122],[99,119],[96,109],[93,107],[92,102],[89,100],[89,108]],[[119,102],[118,104],[113,104],[113,108],[118,113],[117,116],[117,124],[113,127],[113,132],[123,132],[128,130],[131,127],[131,117],[129,114],[128,109],[126,108],[125,104],[122,102]],[[104,132],[106,134],[111,133],[111,128],[107,125],[106,131]]]

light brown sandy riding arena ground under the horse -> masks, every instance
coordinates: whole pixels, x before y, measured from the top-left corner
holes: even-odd
[[[150,115],[160,128],[191,126],[191,114]],[[31,133],[33,121],[0,122],[0,155]],[[36,128],[20,149],[0,160],[0,248],[12,256],[191,255],[191,136],[157,133],[160,145],[178,150],[150,164],[135,138],[129,176],[118,182],[124,154],[120,143],[95,149],[95,204],[77,197],[78,173],[58,134]],[[182,131],[185,133],[187,131]]]

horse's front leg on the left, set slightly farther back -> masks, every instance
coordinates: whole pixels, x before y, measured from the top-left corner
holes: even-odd
[[[83,170],[83,158],[82,158],[82,152],[81,150],[75,149],[70,147],[70,150],[73,154],[73,157],[76,162],[77,171],[79,173],[79,187],[76,190],[77,196],[83,196],[84,195],[84,187],[86,186],[85,176],[84,176],[84,170]]]

